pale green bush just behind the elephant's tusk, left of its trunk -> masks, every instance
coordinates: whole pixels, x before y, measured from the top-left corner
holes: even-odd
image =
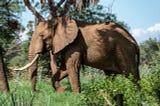
[[[29,42],[18,42],[14,40],[8,45],[9,49],[6,52],[6,63],[9,67],[18,67],[25,65],[28,61]]]

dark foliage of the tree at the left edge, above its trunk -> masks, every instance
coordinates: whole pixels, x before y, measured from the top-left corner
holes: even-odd
[[[20,23],[16,15],[23,10],[22,5],[18,1],[1,0],[0,1],[0,45],[6,50],[9,44],[19,30]]]

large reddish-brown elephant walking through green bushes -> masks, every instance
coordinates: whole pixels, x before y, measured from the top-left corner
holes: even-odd
[[[35,90],[38,56],[47,48],[50,51],[52,85],[64,91],[59,81],[69,77],[73,92],[80,92],[79,70],[87,65],[103,70],[106,75],[124,74],[139,76],[139,46],[132,35],[115,22],[85,23],[69,17],[56,17],[40,22],[29,46],[32,89]],[[57,69],[56,57],[61,53],[61,66]],[[22,69],[21,69],[22,70]]]

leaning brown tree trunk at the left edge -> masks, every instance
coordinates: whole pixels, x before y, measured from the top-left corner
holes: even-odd
[[[9,91],[9,85],[7,81],[7,75],[4,69],[2,49],[0,47],[0,91]]]

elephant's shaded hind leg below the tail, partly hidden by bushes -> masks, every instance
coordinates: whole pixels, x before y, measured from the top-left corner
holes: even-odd
[[[139,69],[137,64],[137,58],[135,53],[126,53],[126,50],[119,49],[117,55],[117,66],[121,72],[123,72],[126,77],[130,74],[133,75],[133,83],[137,85],[137,88],[140,89],[138,81],[140,80]]]

